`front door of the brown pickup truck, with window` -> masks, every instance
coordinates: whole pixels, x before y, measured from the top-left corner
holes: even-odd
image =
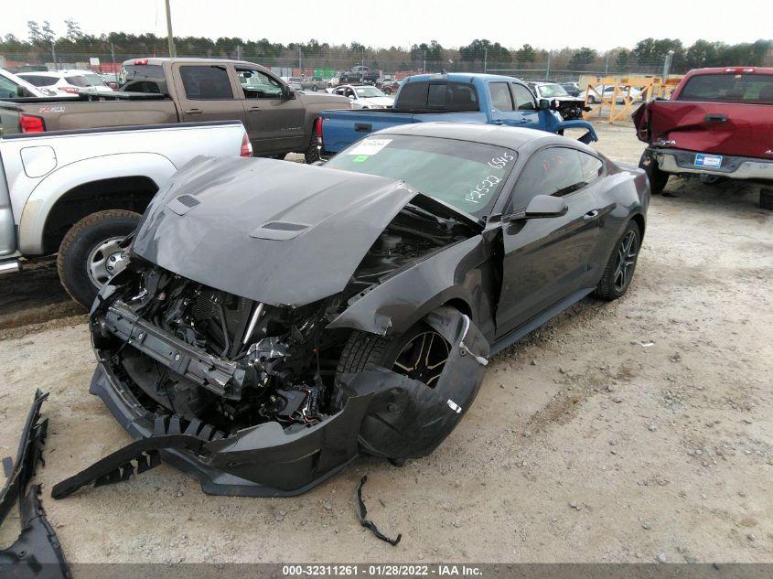
[[[242,65],[235,70],[255,155],[305,150],[306,108],[298,94],[265,70]]]

